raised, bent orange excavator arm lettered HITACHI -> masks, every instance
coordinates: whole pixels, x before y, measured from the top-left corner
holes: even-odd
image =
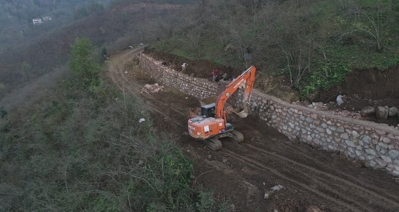
[[[245,90],[243,95],[243,102],[244,102],[243,106],[244,106],[244,111],[245,110],[247,111],[247,105],[251,98],[251,93],[255,82],[255,72],[256,72],[255,66],[251,66],[249,69],[244,71],[240,76],[235,78],[230,84],[226,86],[225,90],[218,96],[216,100],[215,117],[222,118],[226,121],[226,111],[224,109],[224,104],[227,101],[227,99],[231,95],[233,95],[233,93],[237,91],[242,84],[245,84]],[[245,118],[246,113],[245,115],[239,115],[239,116]]]

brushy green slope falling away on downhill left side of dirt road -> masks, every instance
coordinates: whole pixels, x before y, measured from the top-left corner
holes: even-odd
[[[157,132],[135,99],[102,80],[77,84],[65,80],[0,119],[0,193],[10,194],[0,210],[192,211],[198,198],[203,211],[217,208],[191,187],[193,163],[174,137]]]

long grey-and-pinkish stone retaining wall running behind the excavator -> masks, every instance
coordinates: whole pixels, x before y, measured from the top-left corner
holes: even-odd
[[[141,55],[140,65],[155,80],[199,99],[221,90],[218,83],[162,67],[161,62],[145,55]],[[241,97],[242,92],[236,92],[229,103],[237,107],[242,103]],[[386,169],[399,175],[399,130],[393,127],[290,104],[256,89],[250,112],[290,139],[299,139],[324,150],[340,151],[365,161],[370,168]]]

